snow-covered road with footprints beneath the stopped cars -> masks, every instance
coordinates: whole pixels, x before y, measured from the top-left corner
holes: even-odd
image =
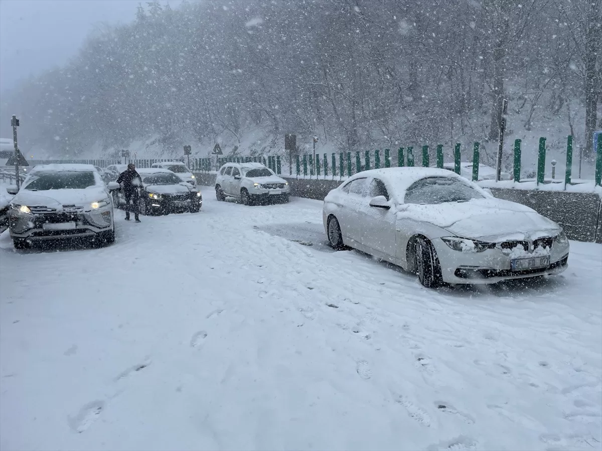
[[[98,250],[0,236],[1,449],[602,449],[601,245],[433,291],[320,201],[203,197]]]

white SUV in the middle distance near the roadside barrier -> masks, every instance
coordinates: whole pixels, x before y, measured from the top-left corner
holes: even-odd
[[[288,182],[261,163],[226,163],[216,177],[217,200],[235,197],[245,205],[257,201],[288,202]]]

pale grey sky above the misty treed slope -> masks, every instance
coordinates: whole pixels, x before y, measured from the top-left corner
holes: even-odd
[[[62,66],[96,26],[131,22],[138,2],[146,7],[146,0],[0,0],[0,92]]]

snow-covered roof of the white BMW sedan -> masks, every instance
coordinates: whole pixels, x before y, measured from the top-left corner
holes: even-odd
[[[425,179],[426,177],[448,177],[452,179],[462,179],[465,183],[470,183],[474,189],[477,189],[480,193],[485,195],[485,197],[489,197],[486,191],[483,191],[479,185],[476,183],[472,183],[464,177],[459,176],[455,172],[449,171],[447,169],[439,169],[439,168],[381,168],[381,169],[371,169],[368,171],[362,171],[355,174],[347,183],[355,179],[362,179],[364,177],[377,178],[382,180],[387,189],[389,190],[389,195],[394,197],[397,201],[403,202],[403,199],[406,195],[406,190],[418,180]],[[347,185],[344,183],[342,186]]]

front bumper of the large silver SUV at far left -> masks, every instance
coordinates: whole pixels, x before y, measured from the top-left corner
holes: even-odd
[[[8,213],[8,230],[11,238],[28,241],[48,241],[93,237],[107,232],[113,227],[113,213],[110,209],[79,213]]]

